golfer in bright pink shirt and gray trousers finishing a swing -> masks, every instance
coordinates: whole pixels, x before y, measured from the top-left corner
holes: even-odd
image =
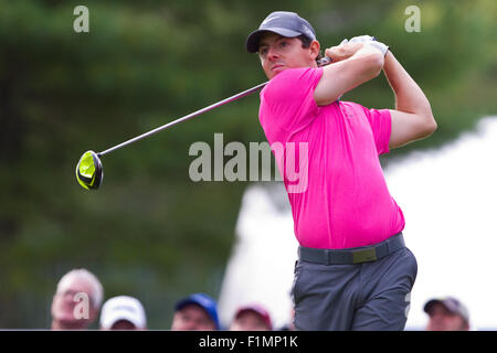
[[[388,46],[369,35],[327,49],[332,62],[319,67],[316,33],[294,12],[271,13],[247,36],[246,50],[258,53],[269,78],[260,107],[269,145],[294,142],[308,153],[305,190],[290,190],[293,180],[284,176],[299,243],[296,329],[403,330],[417,264],[379,156],[435,131],[429,100]],[[381,69],[395,109],[339,100]],[[282,175],[289,159],[278,162]]]

